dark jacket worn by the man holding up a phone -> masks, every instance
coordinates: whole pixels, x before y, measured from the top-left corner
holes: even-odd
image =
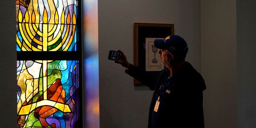
[[[159,88],[166,79],[168,68],[159,72],[148,72],[131,64],[125,71],[130,76],[154,90],[150,103],[148,128],[152,128],[152,112],[154,110]],[[158,128],[204,128],[203,90],[206,89],[204,79],[189,62],[174,72],[170,84],[164,88],[161,103],[164,104]],[[169,90],[169,91],[168,91]]]

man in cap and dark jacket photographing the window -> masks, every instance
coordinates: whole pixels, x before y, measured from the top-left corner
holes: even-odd
[[[126,68],[125,72],[139,80],[152,96],[148,128],[204,128],[203,91],[204,79],[193,66],[185,61],[188,52],[186,41],[178,35],[155,40],[161,62],[165,68],[148,72],[130,64],[121,50],[115,63]]]

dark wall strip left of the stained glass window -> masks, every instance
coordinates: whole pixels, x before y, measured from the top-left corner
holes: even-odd
[[[3,128],[17,127],[15,8],[15,1],[0,2],[0,122]]]

